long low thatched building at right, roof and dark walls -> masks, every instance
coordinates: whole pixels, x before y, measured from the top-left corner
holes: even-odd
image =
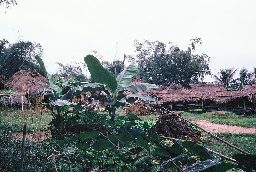
[[[248,89],[222,90],[165,97],[158,101],[165,108],[175,110],[231,111],[238,114],[256,111],[256,84]]]

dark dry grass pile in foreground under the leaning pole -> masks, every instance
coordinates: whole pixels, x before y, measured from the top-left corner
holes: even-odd
[[[156,124],[152,126],[150,133],[180,140],[192,140],[196,143],[199,143],[202,138],[201,133],[192,130],[186,121],[165,112],[157,118]]]

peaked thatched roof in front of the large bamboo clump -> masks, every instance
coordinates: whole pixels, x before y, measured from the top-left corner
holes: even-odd
[[[178,96],[184,96],[184,95],[189,95],[193,94],[189,90],[185,89],[180,83],[172,83],[169,87],[166,89],[162,90],[157,98],[169,98],[169,97],[174,97],[176,95]]]

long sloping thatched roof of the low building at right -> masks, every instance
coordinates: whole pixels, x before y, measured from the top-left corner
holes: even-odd
[[[238,98],[247,99],[250,102],[256,99],[256,84],[253,84],[249,89],[235,89],[235,90],[223,90],[208,93],[194,93],[184,95],[175,95],[172,97],[166,97],[158,101],[158,103],[166,102],[196,102],[201,100],[214,101],[216,104],[223,104]]]

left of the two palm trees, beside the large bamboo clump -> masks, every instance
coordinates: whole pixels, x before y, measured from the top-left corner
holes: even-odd
[[[234,77],[237,69],[234,70],[234,68],[228,68],[228,69],[220,68],[220,72],[218,70],[216,70],[216,71],[217,71],[217,74],[219,75],[219,77],[216,75],[210,74],[212,76],[212,78],[214,78],[216,80],[216,81],[213,81],[212,83],[222,84],[225,88],[228,88],[228,87],[230,87],[231,84],[236,83],[237,79],[234,79],[233,77]]]

